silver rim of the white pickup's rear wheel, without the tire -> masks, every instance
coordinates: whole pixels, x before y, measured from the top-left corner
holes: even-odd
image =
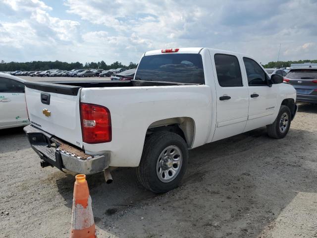
[[[162,182],[170,182],[179,174],[183,162],[181,150],[176,145],[167,146],[157,161],[157,176]]]

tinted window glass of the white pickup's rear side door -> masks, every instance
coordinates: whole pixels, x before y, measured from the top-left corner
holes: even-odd
[[[242,87],[239,61],[232,55],[215,54],[214,63],[218,83],[221,87]]]

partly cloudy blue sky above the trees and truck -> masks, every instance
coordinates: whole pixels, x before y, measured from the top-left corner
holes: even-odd
[[[317,59],[317,0],[0,0],[0,60],[138,62],[209,47]]]

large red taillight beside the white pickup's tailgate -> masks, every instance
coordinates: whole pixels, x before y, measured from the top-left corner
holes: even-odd
[[[111,117],[106,107],[80,103],[80,119],[83,142],[95,144],[111,141]]]

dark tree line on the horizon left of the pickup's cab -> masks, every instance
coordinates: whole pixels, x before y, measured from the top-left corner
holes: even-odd
[[[136,63],[130,62],[129,65],[124,65],[121,62],[115,61],[111,64],[106,64],[104,60],[100,62],[86,62],[82,64],[80,62],[62,62],[62,61],[31,61],[31,62],[4,62],[0,61],[0,71],[44,71],[48,69],[62,69],[71,70],[73,68],[100,68],[100,69],[111,69],[111,68],[135,68]]]

